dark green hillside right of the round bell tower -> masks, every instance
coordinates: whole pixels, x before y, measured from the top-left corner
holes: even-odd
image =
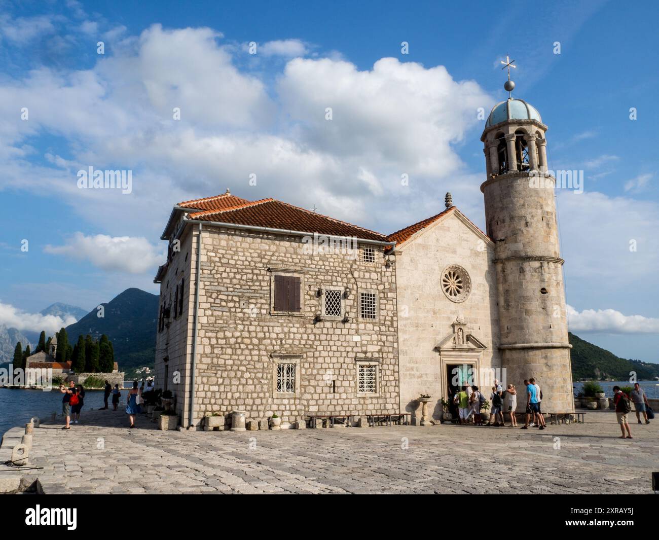
[[[652,380],[659,376],[659,364],[627,360],[597,345],[582,340],[571,332],[572,378],[629,380],[629,372],[635,371],[639,380]]]

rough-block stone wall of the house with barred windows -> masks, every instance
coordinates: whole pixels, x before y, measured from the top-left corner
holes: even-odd
[[[165,303],[180,277],[196,270],[200,232],[188,229],[181,253],[161,277]],[[375,262],[365,263],[354,253],[305,253],[299,236],[204,225],[192,424],[206,414],[233,410],[245,411],[247,421],[277,413],[283,423],[314,414],[399,412],[395,275],[386,266],[384,246],[373,247]],[[190,256],[183,262],[188,248]],[[300,313],[273,312],[275,275],[300,278]],[[178,384],[168,384],[185,427],[193,332],[193,315],[186,307],[194,307],[194,274],[190,283],[186,278],[186,316],[165,324],[156,346],[156,384],[164,387],[165,365],[169,378],[174,371],[182,373]],[[341,291],[341,313],[349,320],[322,315],[326,289]],[[376,320],[358,316],[360,291],[376,293]],[[279,364],[295,366],[294,392],[278,392]],[[374,393],[357,388],[360,364],[374,369]]]

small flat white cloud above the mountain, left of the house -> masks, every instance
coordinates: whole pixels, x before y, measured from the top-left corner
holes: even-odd
[[[165,257],[146,238],[102,234],[86,236],[80,232],[75,233],[65,245],[47,245],[43,251],[88,260],[103,270],[130,274],[155,274]]]

